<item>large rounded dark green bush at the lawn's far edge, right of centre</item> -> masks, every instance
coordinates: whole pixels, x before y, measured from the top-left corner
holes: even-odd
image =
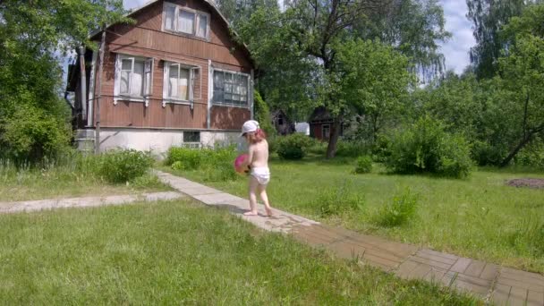
[[[386,166],[395,173],[431,173],[463,178],[470,174],[470,146],[460,135],[445,132],[442,123],[428,116],[420,118],[390,140]]]

